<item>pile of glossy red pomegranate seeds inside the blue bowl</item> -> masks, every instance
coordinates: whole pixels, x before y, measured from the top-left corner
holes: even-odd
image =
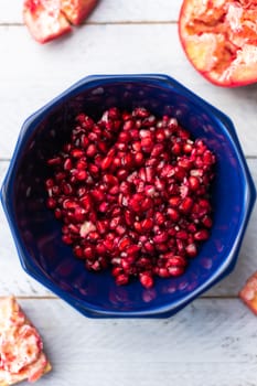
[[[110,108],[79,114],[71,142],[47,160],[47,207],[63,242],[117,285],[182,275],[212,227],[215,156],[175,118]]]

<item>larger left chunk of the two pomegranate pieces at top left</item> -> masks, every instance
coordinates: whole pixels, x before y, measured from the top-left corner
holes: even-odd
[[[60,10],[60,0],[25,0],[23,20],[31,35],[42,44],[72,31]]]

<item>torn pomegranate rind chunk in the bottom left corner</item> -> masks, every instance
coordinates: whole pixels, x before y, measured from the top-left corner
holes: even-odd
[[[35,382],[51,371],[38,330],[14,297],[0,300],[0,385]]]

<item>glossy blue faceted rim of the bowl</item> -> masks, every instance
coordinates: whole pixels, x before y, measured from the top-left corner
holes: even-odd
[[[243,195],[244,195],[244,204],[240,221],[238,224],[238,233],[234,239],[233,247],[231,248],[229,254],[227,254],[224,261],[221,264],[218,269],[204,281],[200,287],[193,289],[189,294],[184,296],[181,299],[176,299],[172,301],[172,303],[167,303],[163,305],[156,307],[154,309],[143,309],[137,311],[119,311],[119,310],[105,310],[101,307],[97,307],[87,301],[76,299],[71,293],[65,292],[60,289],[56,283],[52,282],[47,279],[34,265],[33,261],[30,260],[29,253],[25,250],[25,247],[22,244],[22,240],[19,236],[19,229],[15,224],[15,216],[12,210],[11,197],[12,197],[12,179],[15,174],[15,168],[18,165],[18,158],[21,152],[23,143],[28,140],[30,135],[36,129],[36,122],[39,122],[45,114],[51,112],[52,109],[56,108],[56,106],[65,103],[72,96],[79,94],[82,90],[86,90],[90,87],[99,86],[103,84],[109,83],[151,83],[154,85],[162,85],[168,88],[175,89],[176,94],[181,94],[184,97],[191,99],[193,104],[203,109],[207,115],[213,115],[213,119],[221,122],[219,126],[223,127],[224,132],[229,137],[231,143],[233,144],[233,150],[235,151],[237,162],[240,167],[240,172],[244,178],[243,185]],[[31,116],[29,116],[23,122],[18,141],[13,151],[13,156],[11,158],[11,162],[9,164],[7,174],[4,176],[2,186],[1,186],[1,203],[11,228],[11,234],[14,239],[14,244],[18,250],[19,259],[23,270],[33,277],[41,285],[50,289],[53,293],[57,294],[60,298],[63,298],[67,303],[72,307],[76,308],[76,310],[81,311],[83,314],[93,318],[159,318],[159,317],[169,317],[180,309],[184,308],[188,303],[193,301],[201,293],[205,292],[208,288],[219,281],[222,278],[227,276],[233,269],[238,258],[239,248],[243,243],[244,234],[246,232],[246,227],[256,201],[256,189],[249,172],[246,159],[244,157],[244,152],[242,150],[239,139],[236,133],[236,129],[232,120],[216,107],[204,100],[202,97],[183,86],[181,83],[175,81],[169,75],[164,74],[127,74],[127,75],[89,75],[85,76],[78,82],[74,83],[72,86],[66,88],[63,93],[54,97],[43,107],[38,109]],[[29,259],[28,259],[29,257]],[[29,260],[29,261],[28,261]],[[75,304],[74,304],[75,303]]]

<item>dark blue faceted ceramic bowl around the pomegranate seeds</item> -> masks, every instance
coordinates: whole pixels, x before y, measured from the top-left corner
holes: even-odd
[[[211,238],[176,279],[117,287],[109,271],[93,274],[61,240],[61,224],[46,208],[45,160],[56,153],[82,110],[99,118],[108,107],[143,106],[172,111],[217,158]],[[29,117],[1,190],[23,269],[87,317],[170,317],[228,275],[237,260],[256,199],[255,186],[232,121],[164,75],[88,76]]]

